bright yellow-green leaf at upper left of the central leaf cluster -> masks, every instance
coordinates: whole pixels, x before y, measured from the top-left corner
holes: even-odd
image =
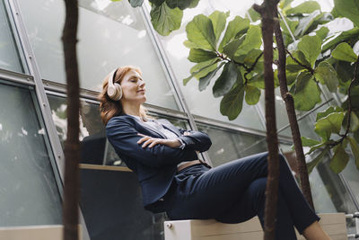
[[[189,41],[200,46],[200,49],[215,50],[215,31],[212,21],[204,14],[199,14],[186,26]]]

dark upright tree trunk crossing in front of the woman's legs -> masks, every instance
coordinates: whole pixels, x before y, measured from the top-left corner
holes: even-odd
[[[278,195],[279,160],[278,138],[276,136],[275,84],[273,74],[273,27],[276,0],[265,0],[253,8],[262,16],[262,34],[264,43],[264,81],[266,99],[266,127],[268,148],[268,175],[266,188],[265,233],[264,239],[276,238],[276,202]]]

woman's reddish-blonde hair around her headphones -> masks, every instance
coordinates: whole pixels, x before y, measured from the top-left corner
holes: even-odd
[[[135,70],[137,73],[142,75],[141,70],[138,67],[125,66],[118,67],[116,76],[114,77],[113,82],[120,84],[123,77],[131,70]],[[121,102],[113,101],[109,98],[107,94],[107,88],[109,85],[109,76],[106,76],[103,79],[102,91],[99,93],[98,100],[100,101],[100,115],[102,122],[106,125],[109,120],[115,116],[121,115],[124,113]],[[153,119],[147,115],[147,109],[141,104],[140,106],[140,118],[145,121],[145,119]]]

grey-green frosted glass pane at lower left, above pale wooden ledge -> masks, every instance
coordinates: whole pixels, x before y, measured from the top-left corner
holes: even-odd
[[[0,84],[0,227],[61,224],[61,199],[33,90]]]

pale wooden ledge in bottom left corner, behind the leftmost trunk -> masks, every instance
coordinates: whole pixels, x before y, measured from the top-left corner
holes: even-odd
[[[62,225],[47,226],[26,226],[26,227],[0,227],[1,240],[63,240]],[[79,240],[81,236],[81,226],[79,226]]]

